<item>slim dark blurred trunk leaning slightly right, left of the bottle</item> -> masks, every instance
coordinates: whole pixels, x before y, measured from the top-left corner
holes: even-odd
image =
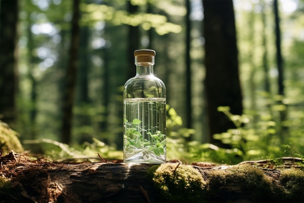
[[[72,109],[75,98],[76,87],[76,72],[78,62],[78,49],[79,49],[79,1],[73,1],[73,17],[71,28],[71,44],[68,59],[68,69],[66,74],[67,85],[64,92],[63,101],[63,124],[61,129],[62,142],[69,144],[71,141],[71,129],[72,129]]]

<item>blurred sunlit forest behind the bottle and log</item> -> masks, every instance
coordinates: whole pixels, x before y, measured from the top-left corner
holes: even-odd
[[[31,153],[121,159],[122,88],[153,49],[168,160],[304,154],[304,0],[0,2],[0,119]]]

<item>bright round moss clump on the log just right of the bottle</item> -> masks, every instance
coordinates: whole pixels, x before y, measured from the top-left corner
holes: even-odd
[[[206,182],[193,166],[162,164],[152,180],[164,202],[203,202]]]

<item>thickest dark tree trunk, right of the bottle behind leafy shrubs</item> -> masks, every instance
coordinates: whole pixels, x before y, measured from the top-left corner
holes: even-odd
[[[203,0],[205,37],[205,88],[209,136],[235,128],[220,106],[229,106],[233,114],[242,114],[242,95],[238,75],[236,26],[232,0]]]

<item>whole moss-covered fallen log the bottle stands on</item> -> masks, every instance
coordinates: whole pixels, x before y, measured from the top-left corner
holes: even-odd
[[[45,163],[9,155],[0,157],[1,203],[304,202],[300,169],[179,161]]]

